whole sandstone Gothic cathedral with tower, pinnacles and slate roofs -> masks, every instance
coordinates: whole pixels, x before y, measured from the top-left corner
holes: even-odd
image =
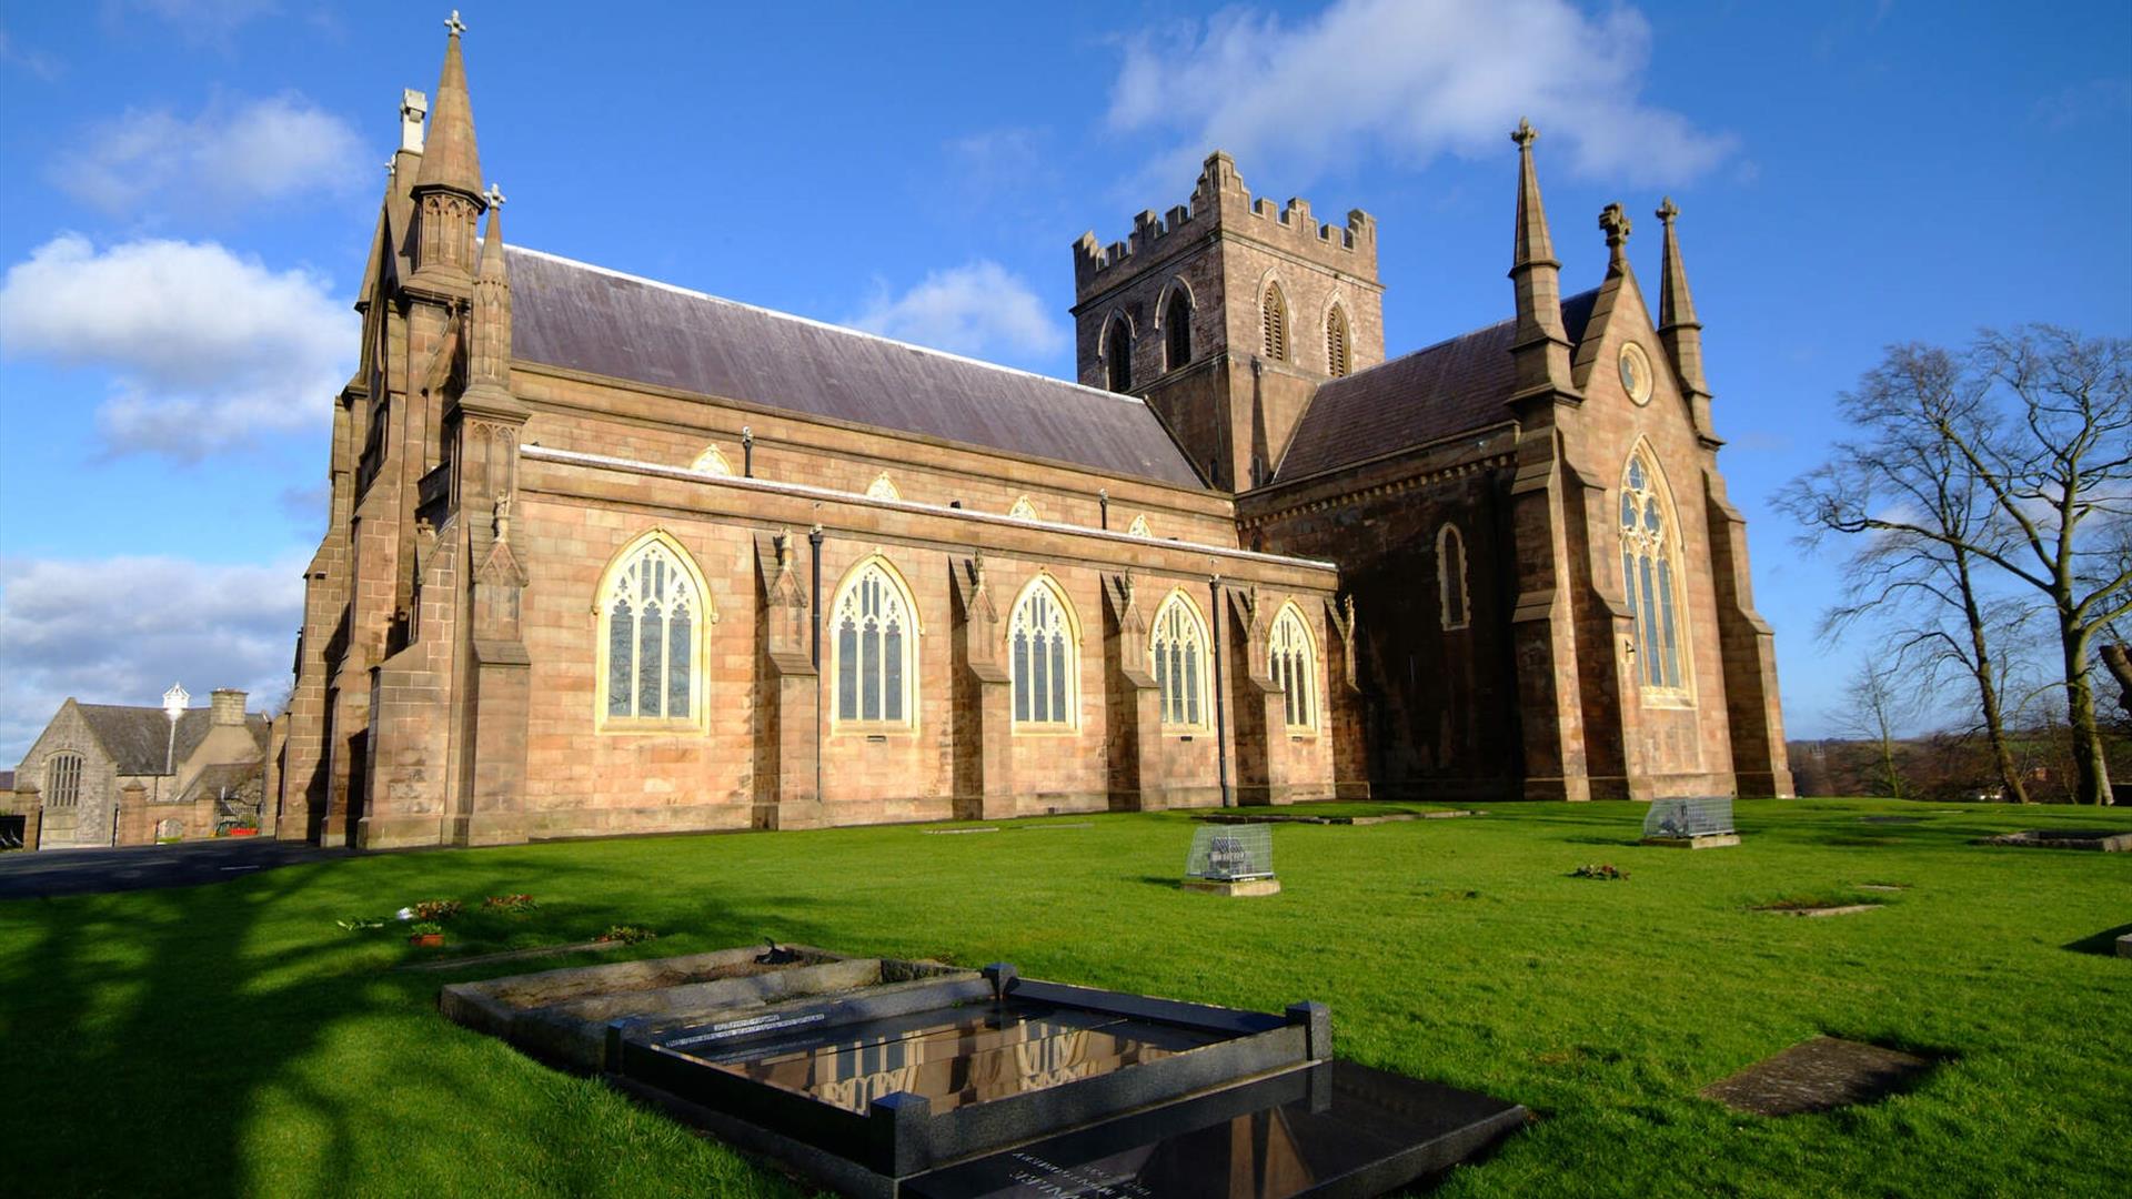
[[[1791,794],[1671,203],[1657,320],[1618,205],[1563,297],[1520,124],[1514,307],[1386,358],[1375,220],[1213,154],[1075,243],[1064,382],[505,245],[461,34],[356,299],[281,836]]]

